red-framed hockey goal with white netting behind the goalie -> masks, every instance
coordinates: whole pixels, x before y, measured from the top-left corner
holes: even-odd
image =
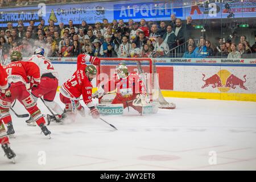
[[[104,58],[101,57],[101,63],[98,66],[97,86],[113,79],[115,68],[119,63],[125,63],[129,72],[136,72],[141,77],[146,86],[147,98],[150,102],[159,105],[159,108],[174,109],[173,103],[167,102],[159,88],[158,73],[156,72],[155,61],[150,58]],[[115,90],[105,94],[99,102],[101,104],[110,104],[116,96]]]

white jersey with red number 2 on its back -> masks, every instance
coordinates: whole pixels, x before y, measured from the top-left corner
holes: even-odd
[[[40,69],[40,75],[44,75],[45,73],[52,73],[53,76],[58,78],[58,73],[53,68],[53,65],[50,60],[46,59],[46,57],[42,55],[32,55],[28,61],[32,61],[36,65],[38,65]]]

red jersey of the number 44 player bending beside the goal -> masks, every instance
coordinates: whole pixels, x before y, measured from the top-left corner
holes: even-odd
[[[71,100],[79,100],[82,95],[85,104],[92,107],[94,106],[92,88],[92,82],[85,75],[85,69],[77,69],[73,76],[61,86],[60,93]]]

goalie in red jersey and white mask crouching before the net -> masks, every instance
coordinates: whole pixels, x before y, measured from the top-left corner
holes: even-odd
[[[146,86],[141,78],[135,72],[128,72],[128,68],[124,63],[118,64],[115,69],[115,75],[104,85],[100,85],[93,98],[101,98],[104,94],[108,94],[116,90],[112,104],[123,104],[125,109],[127,106],[133,107],[139,113],[142,113],[142,106],[147,105]]]

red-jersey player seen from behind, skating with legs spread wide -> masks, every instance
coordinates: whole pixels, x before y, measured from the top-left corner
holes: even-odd
[[[27,77],[31,77],[30,85],[31,88],[38,86],[40,83],[40,70],[38,65],[31,61],[22,61],[22,54],[18,51],[13,51],[10,55],[11,63],[7,64],[4,68],[7,72],[7,80],[10,83],[10,97],[1,97],[0,99],[0,110],[2,114],[2,120],[7,126],[7,134],[14,134],[13,123],[11,121],[11,115],[9,108],[11,102],[15,99],[18,100],[30,113],[34,121],[41,128],[44,135],[49,135],[51,132],[44,125],[44,120],[41,111],[36,106],[36,102],[31,94],[26,89]]]

